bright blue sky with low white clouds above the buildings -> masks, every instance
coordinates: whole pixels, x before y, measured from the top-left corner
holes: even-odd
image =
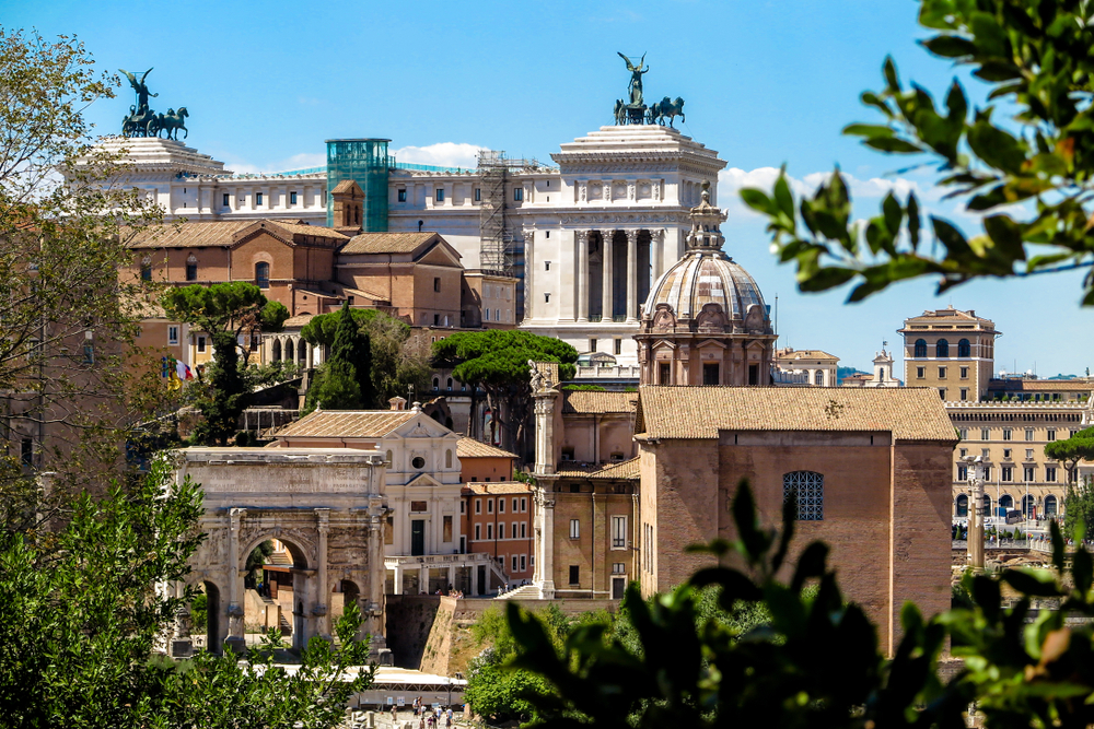
[[[559,143],[609,124],[628,74],[616,51],[648,52],[647,97],[683,96],[684,132],[728,162],[720,202],[726,251],[779,298],[781,343],[869,366],[907,316],[953,304],[996,321],[997,369],[1041,376],[1094,365],[1094,324],[1079,307],[1081,275],[979,282],[933,295],[905,283],[863,304],[846,291],[796,292],[776,264],[761,221],[733,201],[787,164],[801,188],[833,165],[854,178],[856,213],[874,214],[893,184],[971,232],[905,160],[840,136],[874,121],[858,96],[881,86],[892,54],[903,79],[944,93],[955,71],[916,45],[912,0],[661,0],[660,2],[338,2],[0,0],[7,28],[77,34],[104,70],[154,70],[156,108],[185,106],[188,143],[236,171],[321,164],[323,141],[387,137],[403,161],[473,164],[479,146],[549,160]],[[974,98],[982,86],[962,77]],[[114,132],[131,94],[89,110]]]

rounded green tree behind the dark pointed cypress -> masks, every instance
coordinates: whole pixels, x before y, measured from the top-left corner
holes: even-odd
[[[376,309],[350,309],[353,320],[369,337],[372,356],[371,383],[374,405],[384,408],[391,398],[406,397],[408,390],[424,390],[429,384],[429,356],[410,327]],[[331,346],[338,330],[339,314],[313,317],[300,331],[304,341]],[[362,373],[358,373],[362,377]]]

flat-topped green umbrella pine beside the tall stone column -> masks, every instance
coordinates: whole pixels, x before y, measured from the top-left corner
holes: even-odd
[[[452,376],[473,392],[479,387],[486,391],[490,412],[494,414],[493,426],[501,420],[499,413],[504,403],[505,445],[522,458],[524,434],[532,414],[529,360],[559,363],[559,377],[565,380],[573,377],[578,351],[554,337],[502,329],[462,331],[433,344],[435,367],[451,368]]]

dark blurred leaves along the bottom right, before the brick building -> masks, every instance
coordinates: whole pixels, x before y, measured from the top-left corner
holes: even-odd
[[[1094,560],[1080,548],[1072,565],[1052,525],[1056,573],[1006,569],[966,580],[971,607],[924,620],[901,611],[896,655],[878,650],[874,626],[845,603],[827,548],[808,544],[789,580],[776,574],[793,536],[793,501],[781,533],[760,528],[752,492],[733,503],[740,539],[703,548],[718,566],[652,603],[632,586],[624,601],[640,649],[610,637],[610,626],[579,626],[561,649],[535,616],[509,605],[520,644],[512,665],[540,674],[555,695],[529,698],[536,725],[604,727],[965,727],[976,702],[992,728],[1094,724],[1094,627],[1067,625],[1066,615],[1094,618]],[[728,566],[735,555],[746,566]],[[814,598],[805,592],[816,583]],[[720,607],[764,605],[770,621],[742,635],[713,621],[696,628],[700,590],[721,587]],[[1004,602],[1006,586],[1016,598]],[[1073,585],[1073,587],[1071,587]],[[1032,612],[1034,599],[1059,610]],[[936,668],[946,640],[965,669],[943,684]]]

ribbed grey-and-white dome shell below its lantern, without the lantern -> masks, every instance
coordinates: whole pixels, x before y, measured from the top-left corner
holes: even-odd
[[[709,249],[691,250],[665,271],[653,284],[642,317],[652,317],[657,304],[668,304],[677,319],[694,319],[706,304],[719,304],[731,322],[742,321],[753,304],[767,313],[748,272],[722,251]]]

